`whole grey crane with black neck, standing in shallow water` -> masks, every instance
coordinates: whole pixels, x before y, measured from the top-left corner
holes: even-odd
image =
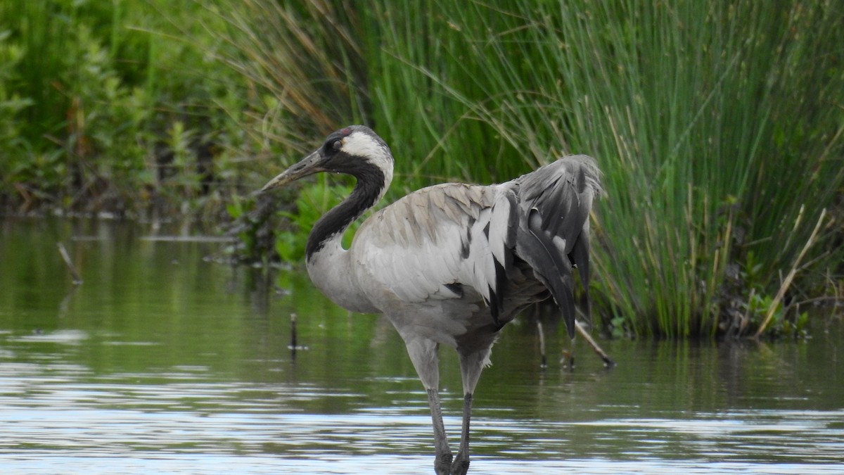
[[[386,193],[392,163],[381,138],[352,126],[263,189],[314,172],[357,178],[349,198],[311,231],[308,273],[334,303],[387,315],[428,392],[436,472],[463,474],[473,391],[500,329],[530,303],[552,297],[573,336],[571,269],[587,284],[599,172],[591,158],[569,156],[506,183],[423,188],[366,219],[344,249],[343,232]],[[457,350],[463,376],[463,431],[453,461],[438,394],[440,345]]]

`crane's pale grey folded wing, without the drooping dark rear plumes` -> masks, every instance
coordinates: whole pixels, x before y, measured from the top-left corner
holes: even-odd
[[[516,245],[517,202],[504,186],[423,188],[360,227],[351,251],[368,275],[407,302],[473,287],[497,311]],[[374,286],[373,288],[379,286]]]

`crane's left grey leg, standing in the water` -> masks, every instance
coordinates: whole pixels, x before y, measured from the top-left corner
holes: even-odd
[[[434,426],[434,449],[436,459],[434,470],[436,475],[450,475],[452,470],[452,450],[448,446],[446,427],[442,423],[442,408],[440,406],[440,367],[435,341],[422,338],[404,340],[408,347],[410,361],[414,363],[416,373],[422,380],[422,385],[428,391],[428,405],[430,406],[431,423]]]

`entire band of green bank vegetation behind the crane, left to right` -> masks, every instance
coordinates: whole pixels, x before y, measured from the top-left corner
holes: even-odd
[[[7,0],[0,202],[235,221],[241,259],[295,262],[348,183],[280,214],[250,193],[340,125],[392,145],[388,199],[586,153],[595,325],[801,336],[844,273],[841,25],[833,1]]]

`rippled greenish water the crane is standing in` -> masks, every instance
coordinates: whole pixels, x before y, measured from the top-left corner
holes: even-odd
[[[225,245],[0,223],[0,472],[433,472],[425,392],[392,327],[298,271],[203,259]],[[546,333],[559,355],[564,331]],[[609,370],[578,342],[569,372],[539,369],[535,327],[511,325],[476,393],[470,473],[844,472],[844,331],[816,319],[812,334],[601,341]],[[441,358],[456,448],[460,376]]]

